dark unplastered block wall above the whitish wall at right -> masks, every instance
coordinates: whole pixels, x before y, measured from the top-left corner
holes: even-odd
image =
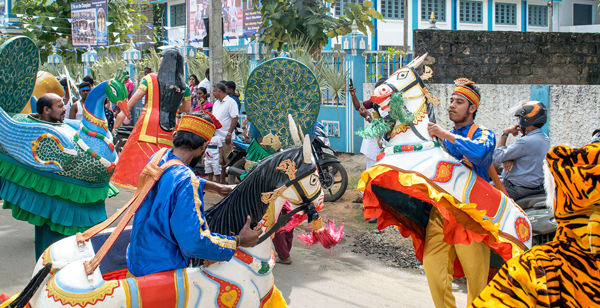
[[[600,84],[600,34],[415,30],[414,55],[433,83],[469,77],[480,84]]]

